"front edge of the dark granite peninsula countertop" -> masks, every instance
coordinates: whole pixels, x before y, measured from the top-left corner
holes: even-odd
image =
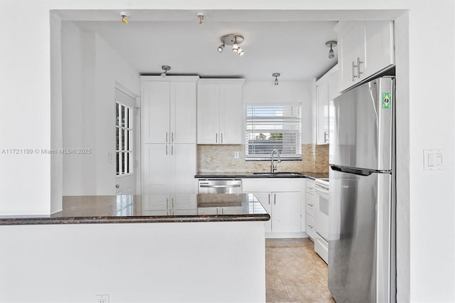
[[[190,222],[245,222],[270,220],[268,213],[257,215],[205,216],[134,216],[134,217],[61,217],[61,218],[0,218],[1,225],[67,225],[117,223],[190,223]]]

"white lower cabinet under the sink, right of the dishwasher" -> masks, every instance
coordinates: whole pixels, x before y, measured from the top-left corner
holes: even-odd
[[[267,238],[303,238],[301,230],[302,179],[243,179],[244,193],[253,193],[270,215]]]

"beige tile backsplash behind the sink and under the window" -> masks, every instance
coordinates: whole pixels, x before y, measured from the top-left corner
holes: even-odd
[[[239,158],[234,158],[235,151]],[[302,144],[301,161],[277,163],[278,171],[328,173],[328,144]],[[198,145],[198,171],[250,172],[269,171],[270,161],[245,161],[245,145]]]

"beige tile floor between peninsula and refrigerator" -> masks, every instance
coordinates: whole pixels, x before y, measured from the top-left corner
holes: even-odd
[[[335,302],[327,288],[327,265],[309,238],[266,239],[267,302]]]

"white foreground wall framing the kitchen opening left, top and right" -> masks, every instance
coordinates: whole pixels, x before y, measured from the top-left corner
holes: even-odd
[[[50,147],[50,9],[322,9],[345,18],[346,10],[361,18],[363,9],[410,9],[409,28],[406,18],[397,22],[397,32],[409,32],[409,52],[407,41],[396,47],[405,63],[397,65],[405,103],[397,112],[399,299],[455,301],[454,1],[0,1],[0,45],[8,46],[0,48],[2,149]],[[444,171],[423,170],[422,149],[432,148],[444,149]],[[0,167],[1,214],[50,213],[49,155],[0,154]]]

